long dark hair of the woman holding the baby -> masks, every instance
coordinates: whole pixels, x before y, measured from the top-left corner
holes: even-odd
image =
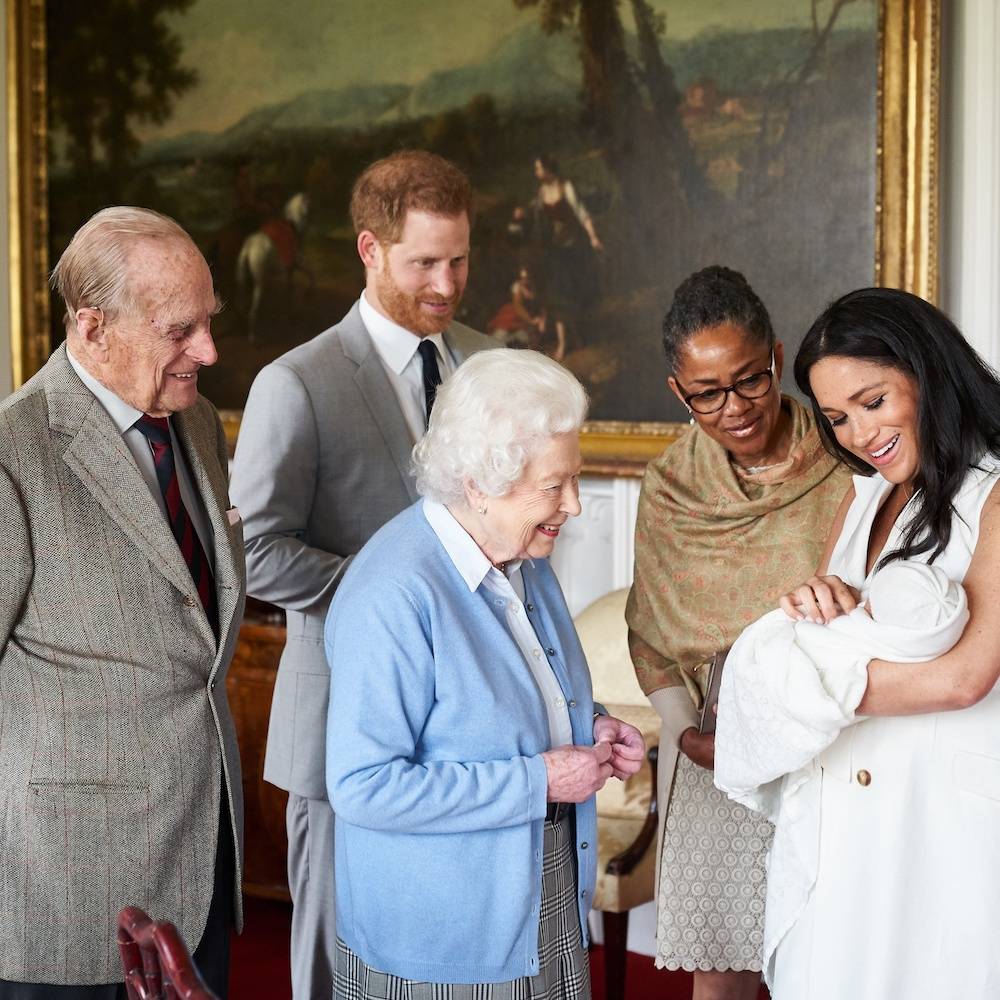
[[[879,561],[930,552],[951,538],[952,501],[969,469],[1000,457],[1000,380],[940,309],[895,288],[861,288],[832,303],[813,323],[795,357],[795,382],[809,397],[827,451],[863,475],[874,467],[838,444],[809,383],[814,364],[853,358],[895,368],[917,383],[919,466],[916,511],[898,548]]]

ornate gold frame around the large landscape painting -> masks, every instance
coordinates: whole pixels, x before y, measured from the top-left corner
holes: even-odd
[[[875,283],[933,301],[938,292],[940,0],[858,2],[874,3],[878,10],[870,273]],[[11,339],[14,383],[20,385],[51,348],[46,10],[45,0],[6,3]],[[845,0],[831,0],[812,9],[815,15],[817,9],[848,6]],[[664,294],[669,296],[669,289]],[[238,411],[226,416],[235,433]],[[593,421],[583,439],[587,471],[639,474],[682,428],[646,420]]]

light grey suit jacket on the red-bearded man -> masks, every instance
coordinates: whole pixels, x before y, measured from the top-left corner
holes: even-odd
[[[444,339],[457,361],[499,346],[458,323]],[[264,777],[298,795],[326,798],[327,608],[351,556],[417,499],[411,449],[357,304],[265,367],[243,411],[231,492],[247,589],[288,616]]]

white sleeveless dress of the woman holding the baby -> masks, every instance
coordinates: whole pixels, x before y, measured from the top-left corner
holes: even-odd
[[[982,464],[934,563],[956,581],[1000,479],[1000,463]],[[864,591],[872,522],[892,487],[879,475],[854,486],[829,572]],[[963,711],[865,719],[819,763],[818,873],[768,963],[774,1000],[1000,997],[1000,685]]]

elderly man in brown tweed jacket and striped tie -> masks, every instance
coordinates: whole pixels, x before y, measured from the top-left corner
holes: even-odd
[[[212,278],[176,223],[112,208],[53,281],[66,344],[0,404],[0,1000],[124,997],[127,904],[225,996],[245,570],[198,394]]]

